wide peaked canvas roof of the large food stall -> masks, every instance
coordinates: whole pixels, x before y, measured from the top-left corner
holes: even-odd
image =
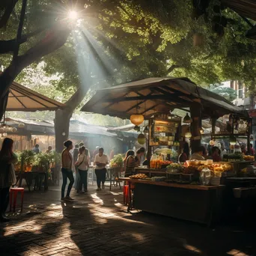
[[[224,97],[195,85],[187,78],[153,77],[98,90],[82,107],[84,112],[129,118],[142,114],[148,119],[155,113],[168,114],[172,109],[198,104],[203,118],[230,113],[248,117]]]

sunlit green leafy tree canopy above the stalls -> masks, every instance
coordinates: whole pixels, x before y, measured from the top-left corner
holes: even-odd
[[[0,6],[1,17],[10,7],[7,2]],[[16,37],[22,1],[11,2],[16,2],[16,7],[2,27],[1,40]],[[199,85],[238,79],[253,90],[256,42],[245,37],[249,25],[234,11],[219,10],[218,15],[225,17],[227,24],[223,34],[216,34],[216,3],[210,1],[207,16],[195,19],[191,0],[80,0],[64,4],[28,0],[22,34],[29,38],[19,52],[51,38],[56,21],[65,19],[67,11],[74,7],[79,12],[79,24],[65,28],[68,36],[63,36],[63,46],[52,46],[52,52],[46,51],[48,55],[36,59],[37,63],[44,61],[47,76],[58,74],[59,79],[50,83],[63,99],[80,85],[87,91],[90,85],[100,88],[149,76],[187,76]],[[195,34],[202,36],[200,46],[193,44]],[[10,61],[10,55],[0,55],[4,67]],[[26,70],[19,74],[19,82],[24,81],[25,74]],[[52,90],[45,93],[51,96]]]

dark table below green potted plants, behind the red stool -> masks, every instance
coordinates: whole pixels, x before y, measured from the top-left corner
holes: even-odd
[[[22,186],[22,179],[28,186],[28,191],[31,192],[31,184],[34,180],[34,190],[41,188],[42,181],[44,179],[44,191],[48,190],[48,173],[47,171],[19,171],[17,174],[17,183],[19,182],[19,187]]]

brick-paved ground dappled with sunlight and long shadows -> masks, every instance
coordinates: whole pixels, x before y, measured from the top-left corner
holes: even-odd
[[[73,197],[61,203],[58,187],[25,192],[22,215],[0,224],[0,255],[256,255],[253,231],[131,215],[118,188]]]

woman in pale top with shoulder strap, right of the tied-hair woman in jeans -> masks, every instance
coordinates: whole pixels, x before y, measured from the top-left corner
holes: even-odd
[[[79,155],[76,162],[76,167],[78,168],[80,180],[79,180],[79,187],[77,192],[82,192],[82,184],[84,184],[84,191],[87,192],[87,176],[88,176],[88,168],[89,168],[90,156],[89,150],[82,146],[79,148]]]

